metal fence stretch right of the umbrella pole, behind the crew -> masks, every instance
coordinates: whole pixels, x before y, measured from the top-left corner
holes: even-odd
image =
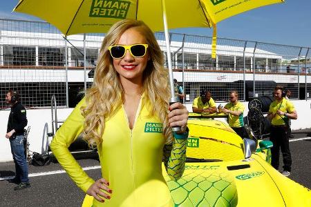
[[[173,68],[182,71],[178,81],[186,102],[205,88],[216,100],[227,101],[229,92],[237,90],[248,101],[272,96],[278,85],[291,90],[292,99],[310,99],[309,48],[218,38],[217,56],[211,59],[210,43],[211,37],[171,34]]]

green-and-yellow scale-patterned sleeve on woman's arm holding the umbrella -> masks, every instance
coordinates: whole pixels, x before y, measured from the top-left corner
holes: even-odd
[[[188,139],[174,139],[173,144],[163,148],[163,161],[167,174],[172,180],[182,177],[186,163],[186,149]]]

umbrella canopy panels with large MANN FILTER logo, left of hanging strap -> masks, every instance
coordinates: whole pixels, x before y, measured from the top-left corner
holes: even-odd
[[[166,8],[169,28],[210,27],[200,1],[167,0]],[[121,19],[142,20],[155,32],[164,30],[160,0],[21,0],[14,11],[40,17],[65,35],[104,33]]]

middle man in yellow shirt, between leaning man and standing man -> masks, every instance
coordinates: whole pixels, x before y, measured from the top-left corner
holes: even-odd
[[[238,92],[232,90],[229,95],[230,102],[225,105],[220,112],[228,114],[229,126],[238,134],[240,137],[246,137],[246,131],[244,128],[243,112],[245,106],[243,103],[238,101]]]

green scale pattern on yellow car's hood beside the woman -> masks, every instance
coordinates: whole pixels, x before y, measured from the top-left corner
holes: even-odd
[[[175,206],[236,206],[238,194],[234,177],[227,172],[186,166],[178,181],[164,177]]]

